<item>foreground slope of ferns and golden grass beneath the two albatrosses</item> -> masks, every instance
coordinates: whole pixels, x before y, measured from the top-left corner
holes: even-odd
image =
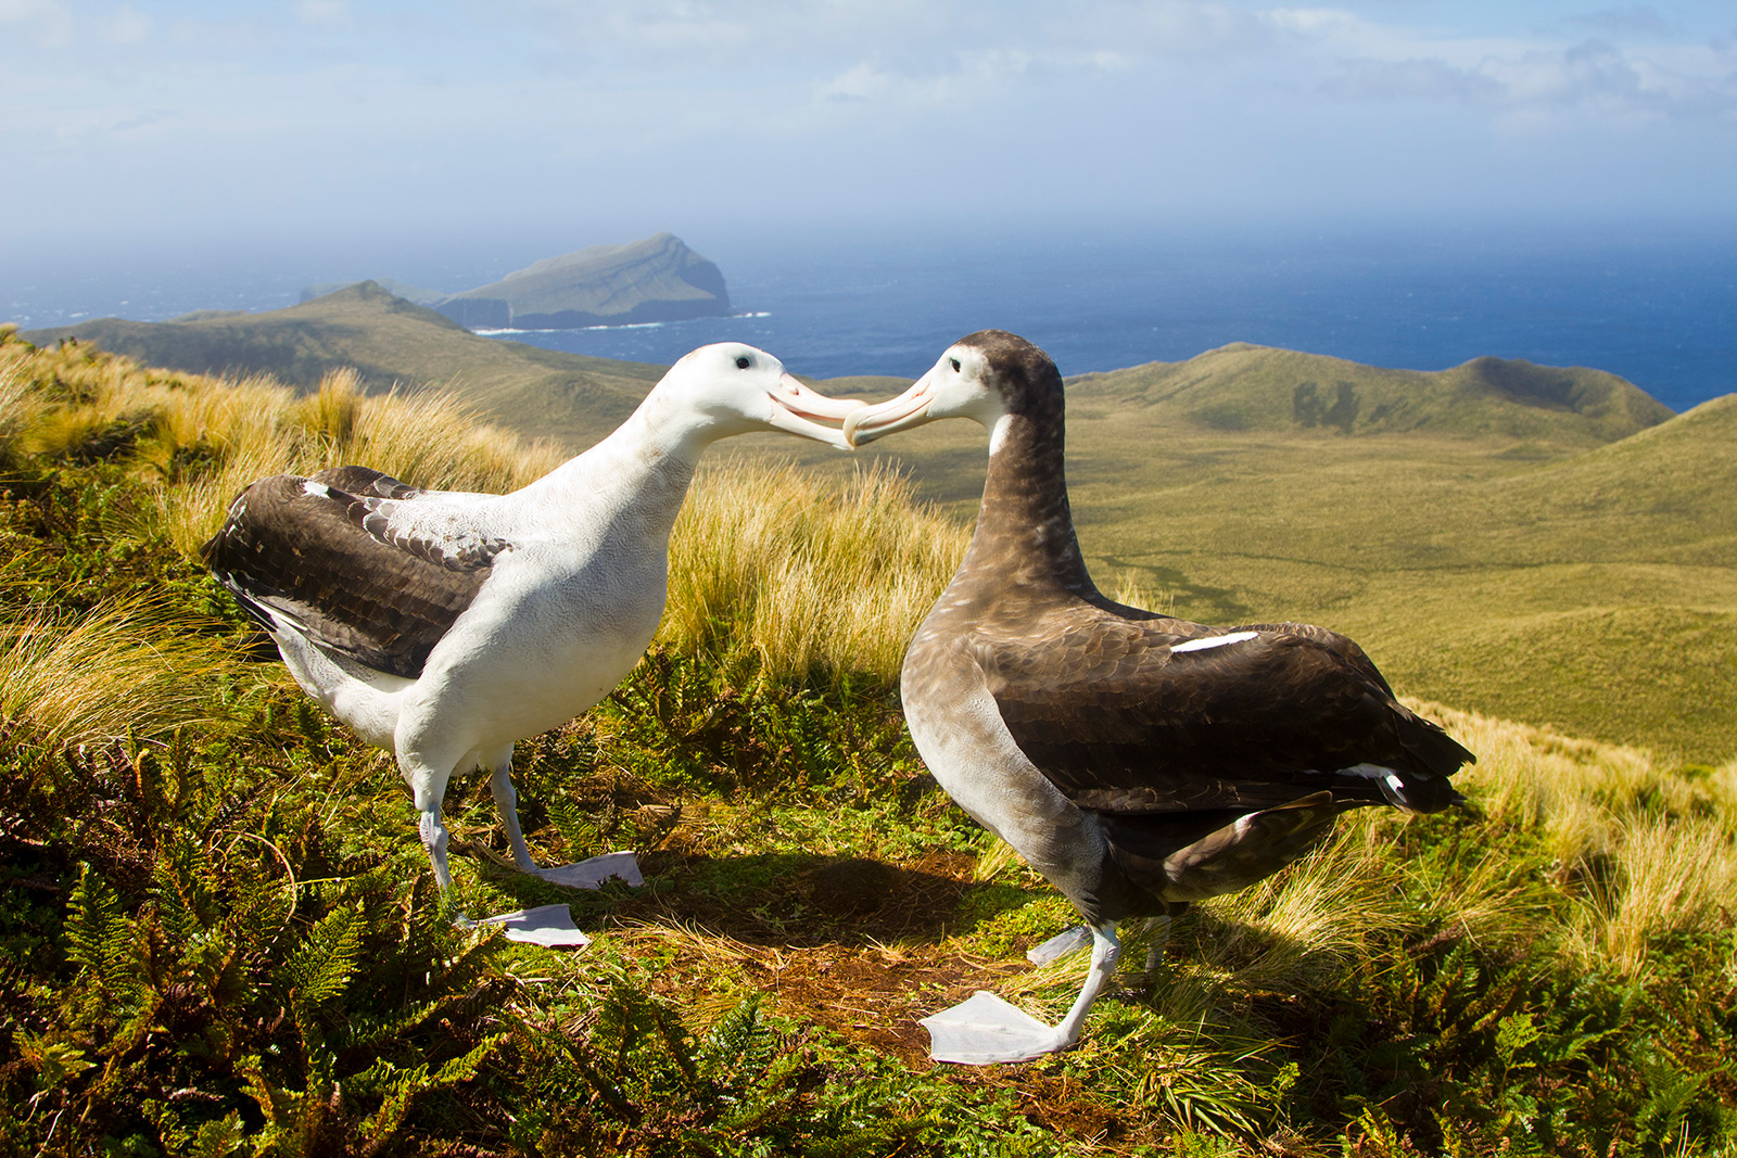
[[[1555,469],[1628,477],[1647,443],[1624,446]],[[886,476],[703,481],[662,642],[518,753],[537,856],[636,847],[648,885],[511,872],[467,780],[466,910],[568,903],[598,939],[453,927],[389,759],[188,556],[243,465],[347,453],[507,486],[554,451],[450,399],[0,332],[5,1153],[1737,1153],[1737,764],[1435,705],[1480,755],[1466,811],[1353,814],[1178,922],[1166,976],[1100,1002],[1070,1054],[931,1066],[915,1017],[976,988],[1056,1016],[1080,962],[1025,964],[1067,905],[903,738],[896,646],[868,644],[908,630],[962,531]]]

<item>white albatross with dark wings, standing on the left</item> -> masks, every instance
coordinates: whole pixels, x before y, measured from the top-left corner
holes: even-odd
[[[606,439],[511,495],[429,491],[367,467],[273,476],[201,547],[311,698],[393,752],[441,891],[441,799],[492,774],[512,858],[512,745],[573,719],[639,661],[664,615],[669,536],[700,453],[789,431],[841,450],[858,401],[752,345],[700,347]],[[542,870],[561,880],[561,870]]]

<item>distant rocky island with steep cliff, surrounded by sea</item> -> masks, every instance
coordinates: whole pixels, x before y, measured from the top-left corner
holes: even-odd
[[[351,285],[309,286],[302,300]],[[723,271],[672,233],[545,257],[460,293],[438,293],[389,278],[379,278],[377,285],[467,330],[578,330],[730,314]]]

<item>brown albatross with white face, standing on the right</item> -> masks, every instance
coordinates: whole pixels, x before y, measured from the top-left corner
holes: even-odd
[[[948,417],[988,427],[988,477],[964,563],[905,653],[905,720],[954,800],[1073,901],[1093,953],[1056,1026],[981,991],[924,1024],[938,1061],[1027,1061],[1079,1042],[1119,922],[1167,927],[1303,856],[1344,809],[1445,809],[1475,757],[1344,635],[1205,627],[1100,594],[1068,512],[1061,375],[1025,339],[961,339],[844,436]]]

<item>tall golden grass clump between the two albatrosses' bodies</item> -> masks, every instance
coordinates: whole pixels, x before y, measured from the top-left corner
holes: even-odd
[[[889,469],[839,484],[728,460],[702,472],[676,523],[658,639],[717,646],[733,622],[768,679],[891,682],[968,542],[968,528],[917,503]]]

